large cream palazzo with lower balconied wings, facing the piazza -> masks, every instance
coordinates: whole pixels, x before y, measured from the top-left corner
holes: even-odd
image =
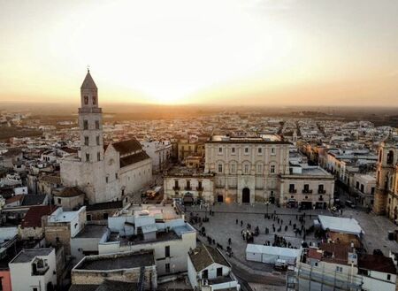
[[[167,172],[165,195],[189,195],[210,203],[326,208],[333,203],[333,175],[318,166],[293,165],[290,146],[273,134],[212,136],[205,143],[203,172]]]

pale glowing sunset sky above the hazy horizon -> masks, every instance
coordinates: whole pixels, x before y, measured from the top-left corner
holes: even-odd
[[[398,106],[397,0],[0,0],[0,102]]]

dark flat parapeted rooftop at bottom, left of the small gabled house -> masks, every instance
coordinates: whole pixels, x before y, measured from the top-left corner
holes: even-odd
[[[111,271],[155,264],[153,250],[84,257],[73,270]]]

